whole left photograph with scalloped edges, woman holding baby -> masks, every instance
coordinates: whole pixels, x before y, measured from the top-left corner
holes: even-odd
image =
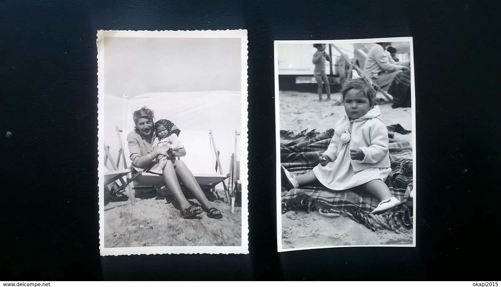
[[[246,30],[97,36],[101,254],[248,253]]]

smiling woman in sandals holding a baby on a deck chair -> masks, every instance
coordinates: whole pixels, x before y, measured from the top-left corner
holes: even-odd
[[[132,118],[134,119],[135,127],[134,130],[127,135],[132,165],[145,170],[158,167],[157,157],[168,156],[169,148],[164,146],[157,148],[153,147],[155,137],[155,131],[153,130],[153,110],[143,106],[141,109],[134,111]],[[184,154],[186,154],[186,152],[178,152],[176,155],[183,156]],[[221,212],[212,206],[207,199],[193,176],[193,173],[191,173],[184,162],[176,160],[175,162],[166,161],[165,163],[162,169],[162,176],[165,185],[179,203],[181,216],[183,218],[193,218],[195,215],[202,213],[203,210],[207,212],[207,216],[210,218],[222,217]],[[178,176],[188,190],[193,193],[198,202],[200,202],[202,208],[191,205],[189,201],[186,200],[181,190]]]

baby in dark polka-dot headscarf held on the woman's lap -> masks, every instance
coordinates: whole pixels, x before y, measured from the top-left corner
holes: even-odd
[[[154,127],[157,136],[153,141],[153,150],[160,146],[164,146],[169,148],[169,151],[167,152],[168,156],[158,156],[158,163],[156,164],[156,166],[150,169],[149,172],[162,174],[165,164],[167,164],[167,160],[172,161],[172,163],[176,161],[176,157],[173,155],[172,150],[177,150],[183,147],[182,143],[179,141],[179,139],[177,139],[177,136],[179,135],[179,132],[181,132],[181,130],[177,128],[177,126],[172,123],[172,121],[163,118],[155,122]]]

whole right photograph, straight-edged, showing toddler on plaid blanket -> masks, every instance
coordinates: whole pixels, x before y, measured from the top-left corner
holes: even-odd
[[[412,38],[275,41],[279,251],[415,246]]]

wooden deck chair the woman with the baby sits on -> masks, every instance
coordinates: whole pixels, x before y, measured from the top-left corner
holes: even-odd
[[[128,148],[125,149],[124,148],[124,140],[122,139],[122,129],[119,128],[118,126],[116,127],[116,132],[117,132],[117,136],[119,138],[119,146],[122,150],[124,150],[122,152],[122,155],[123,155],[123,158],[124,158],[124,166],[127,166],[126,162],[125,162],[125,153],[128,152]],[[211,131],[209,131],[209,133],[211,134]],[[212,137],[212,140],[213,140],[213,137]],[[215,150],[215,145],[214,145],[214,150]],[[219,157],[218,157],[218,153],[217,153],[217,150],[216,150],[216,161],[219,161]],[[165,182],[163,180],[163,177],[161,175],[157,175],[157,174],[153,174],[153,173],[149,173],[149,172],[144,172],[143,169],[141,168],[136,168],[136,167],[131,167],[129,168],[131,170],[130,172],[130,176],[127,178],[127,181],[125,181],[124,183],[122,183],[122,185],[127,185],[129,186],[129,188],[131,189],[130,193],[131,193],[131,198],[134,198],[134,192],[136,190],[139,190],[139,189],[147,189],[147,190],[154,190],[154,189],[157,189],[157,188],[160,188],[162,187],[163,185],[165,185]],[[220,168],[219,168],[220,169]],[[198,184],[200,185],[200,187],[202,189],[209,189],[209,188],[212,188],[212,190],[215,190],[215,186],[220,183],[220,182],[223,182],[228,176],[229,174],[217,174],[217,173],[211,173],[211,174],[203,174],[203,173],[194,173],[193,174],[195,176],[195,179],[196,181],[198,182]],[[122,186],[120,186],[119,188],[121,188]]]

